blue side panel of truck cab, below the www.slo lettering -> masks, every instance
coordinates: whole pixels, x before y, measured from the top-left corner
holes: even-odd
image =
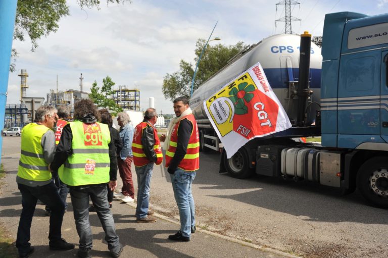
[[[341,56],[338,78],[338,147],[381,141],[381,49]],[[386,94],[388,94],[388,91]],[[388,121],[388,119],[386,120]]]

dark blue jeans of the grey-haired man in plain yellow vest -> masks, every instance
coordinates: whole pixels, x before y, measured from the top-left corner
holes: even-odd
[[[16,247],[20,254],[25,254],[30,250],[31,244],[31,223],[36,207],[36,202],[40,199],[51,209],[49,240],[57,241],[61,239],[61,227],[65,205],[58,194],[57,186],[54,182],[43,186],[27,186],[18,183],[18,188],[22,193],[22,213],[16,237]]]

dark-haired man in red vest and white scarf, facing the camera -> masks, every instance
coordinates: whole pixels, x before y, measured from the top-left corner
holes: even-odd
[[[175,241],[190,241],[196,232],[195,205],[191,194],[191,184],[200,168],[200,141],[197,121],[191,113],[186,97],[174,100],[173,118],[168,126],[166,167],[171,174],[172,188],[179,209],[180,230],[168,236]]]

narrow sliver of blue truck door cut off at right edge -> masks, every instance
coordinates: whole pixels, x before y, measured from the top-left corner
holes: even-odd
[[[381,55],[381,98],[379,124],[381,137],[388,142],[388,51],[382,51]]]

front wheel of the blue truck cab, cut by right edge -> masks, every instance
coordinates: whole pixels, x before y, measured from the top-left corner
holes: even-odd
[[[388,157],[375,157],[358,170],[357,187],[370,203],[388,208]]]

